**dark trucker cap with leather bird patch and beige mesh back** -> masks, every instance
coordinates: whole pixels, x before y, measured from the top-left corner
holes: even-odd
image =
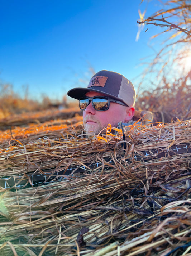
[[[80,99],[89,91],[104,93],[106,96],[124,102],[129,107],[135,105],[136,94],[132,82],[116,72],[101,70],[91,78],[87,88],[73,88],[67,94],[71,98]]]

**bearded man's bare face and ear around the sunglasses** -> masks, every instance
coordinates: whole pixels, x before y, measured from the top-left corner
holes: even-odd
[[[87,97],[106,96],[103,93],[89,91]],[[84,130],[88,134],[99,134],[110,123],[112,127],[117,127],[118,122],[126,122],[128,120],[128,107],[115,102],[110,102],[110,107],[105,111],[97,111],[93,108],[92,103],[83,111]],[[129,120],[131,117],[129,117]]]

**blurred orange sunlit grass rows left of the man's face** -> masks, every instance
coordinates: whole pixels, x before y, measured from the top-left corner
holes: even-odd
[[[62,131],[68,126],[81,122],[81,111],[78,109],[47,110],[31,114],[15,115],[0,120],[0,148],[14,145],[25,145],[38,138],[48,136],[53,139],[53,131]],[[80,129],[82,129],[82,125]],[[59,133],[58,133],[59,134]]]

